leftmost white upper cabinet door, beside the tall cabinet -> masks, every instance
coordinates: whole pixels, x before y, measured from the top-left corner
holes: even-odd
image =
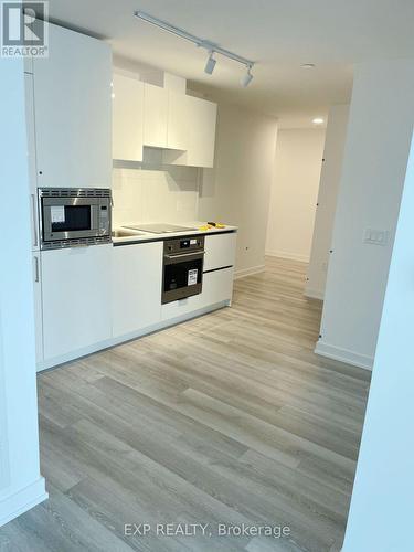
[[[144,83],[113,76],[113,159],[142,161]]]

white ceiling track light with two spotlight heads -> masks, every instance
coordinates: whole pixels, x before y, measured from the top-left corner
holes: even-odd
[[[183,29],[179,29],[178,26],[171,25],[170,23],[167,23],[166,21],[162,21],[160,19],[153,18],[149,13],[145,13],[144,11],[135,11],[134,15],[137,19],[140,19],[141,21],[146,21],[147,23],[150,23],[151,25],[157,26],[158,29],[161,29],[162,31],[167,31],[171,34],[174,34],[176,36],[180,36],[181,39],[188,40],[189,42],[192,42],[199,47],[204,47],[209,52],[209,57],[205,63],[204,72],[208,75],[211,75],[214,71],[216,60],[213,57],[214,54],[220,54],[223,55],[224,57],[229,57],[229,60],[233,60],[237,63],[241,63],[242,65],[245,65],[247,67],[247,73],[243,76],[241,81],[241,85],[245,88],[252,81],[253,75],[252,75],[252,67],[254,65],[254,62],[251,60],[247,60],[246,57],[243,57],[242,55],[234,54],[233,52],[230,52],[230,50],[225,50],[224,47],[219,46],[217,44],[214,44],[212,42],[209,42],[206,40],[200,39],[199,36],[194,36],[193,34],[188,33]]]

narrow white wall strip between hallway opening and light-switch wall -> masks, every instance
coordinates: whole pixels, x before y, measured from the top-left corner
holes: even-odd
[[[349,105],[336,105],[329,110],[318,206],[305,287],[305,295],[316,299],[323,299],[325,296],[348,117]]]

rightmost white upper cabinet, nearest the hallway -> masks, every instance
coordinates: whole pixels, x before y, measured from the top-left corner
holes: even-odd
[[[170,92],[168,148],[164,162],[213,167],[217,106],[202,98]],[[183,150],[183,151],[173,151]]]

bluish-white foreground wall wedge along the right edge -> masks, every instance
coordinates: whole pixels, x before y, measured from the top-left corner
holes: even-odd
[[[414,145],[405,178],[343,552],[413,550]]]

